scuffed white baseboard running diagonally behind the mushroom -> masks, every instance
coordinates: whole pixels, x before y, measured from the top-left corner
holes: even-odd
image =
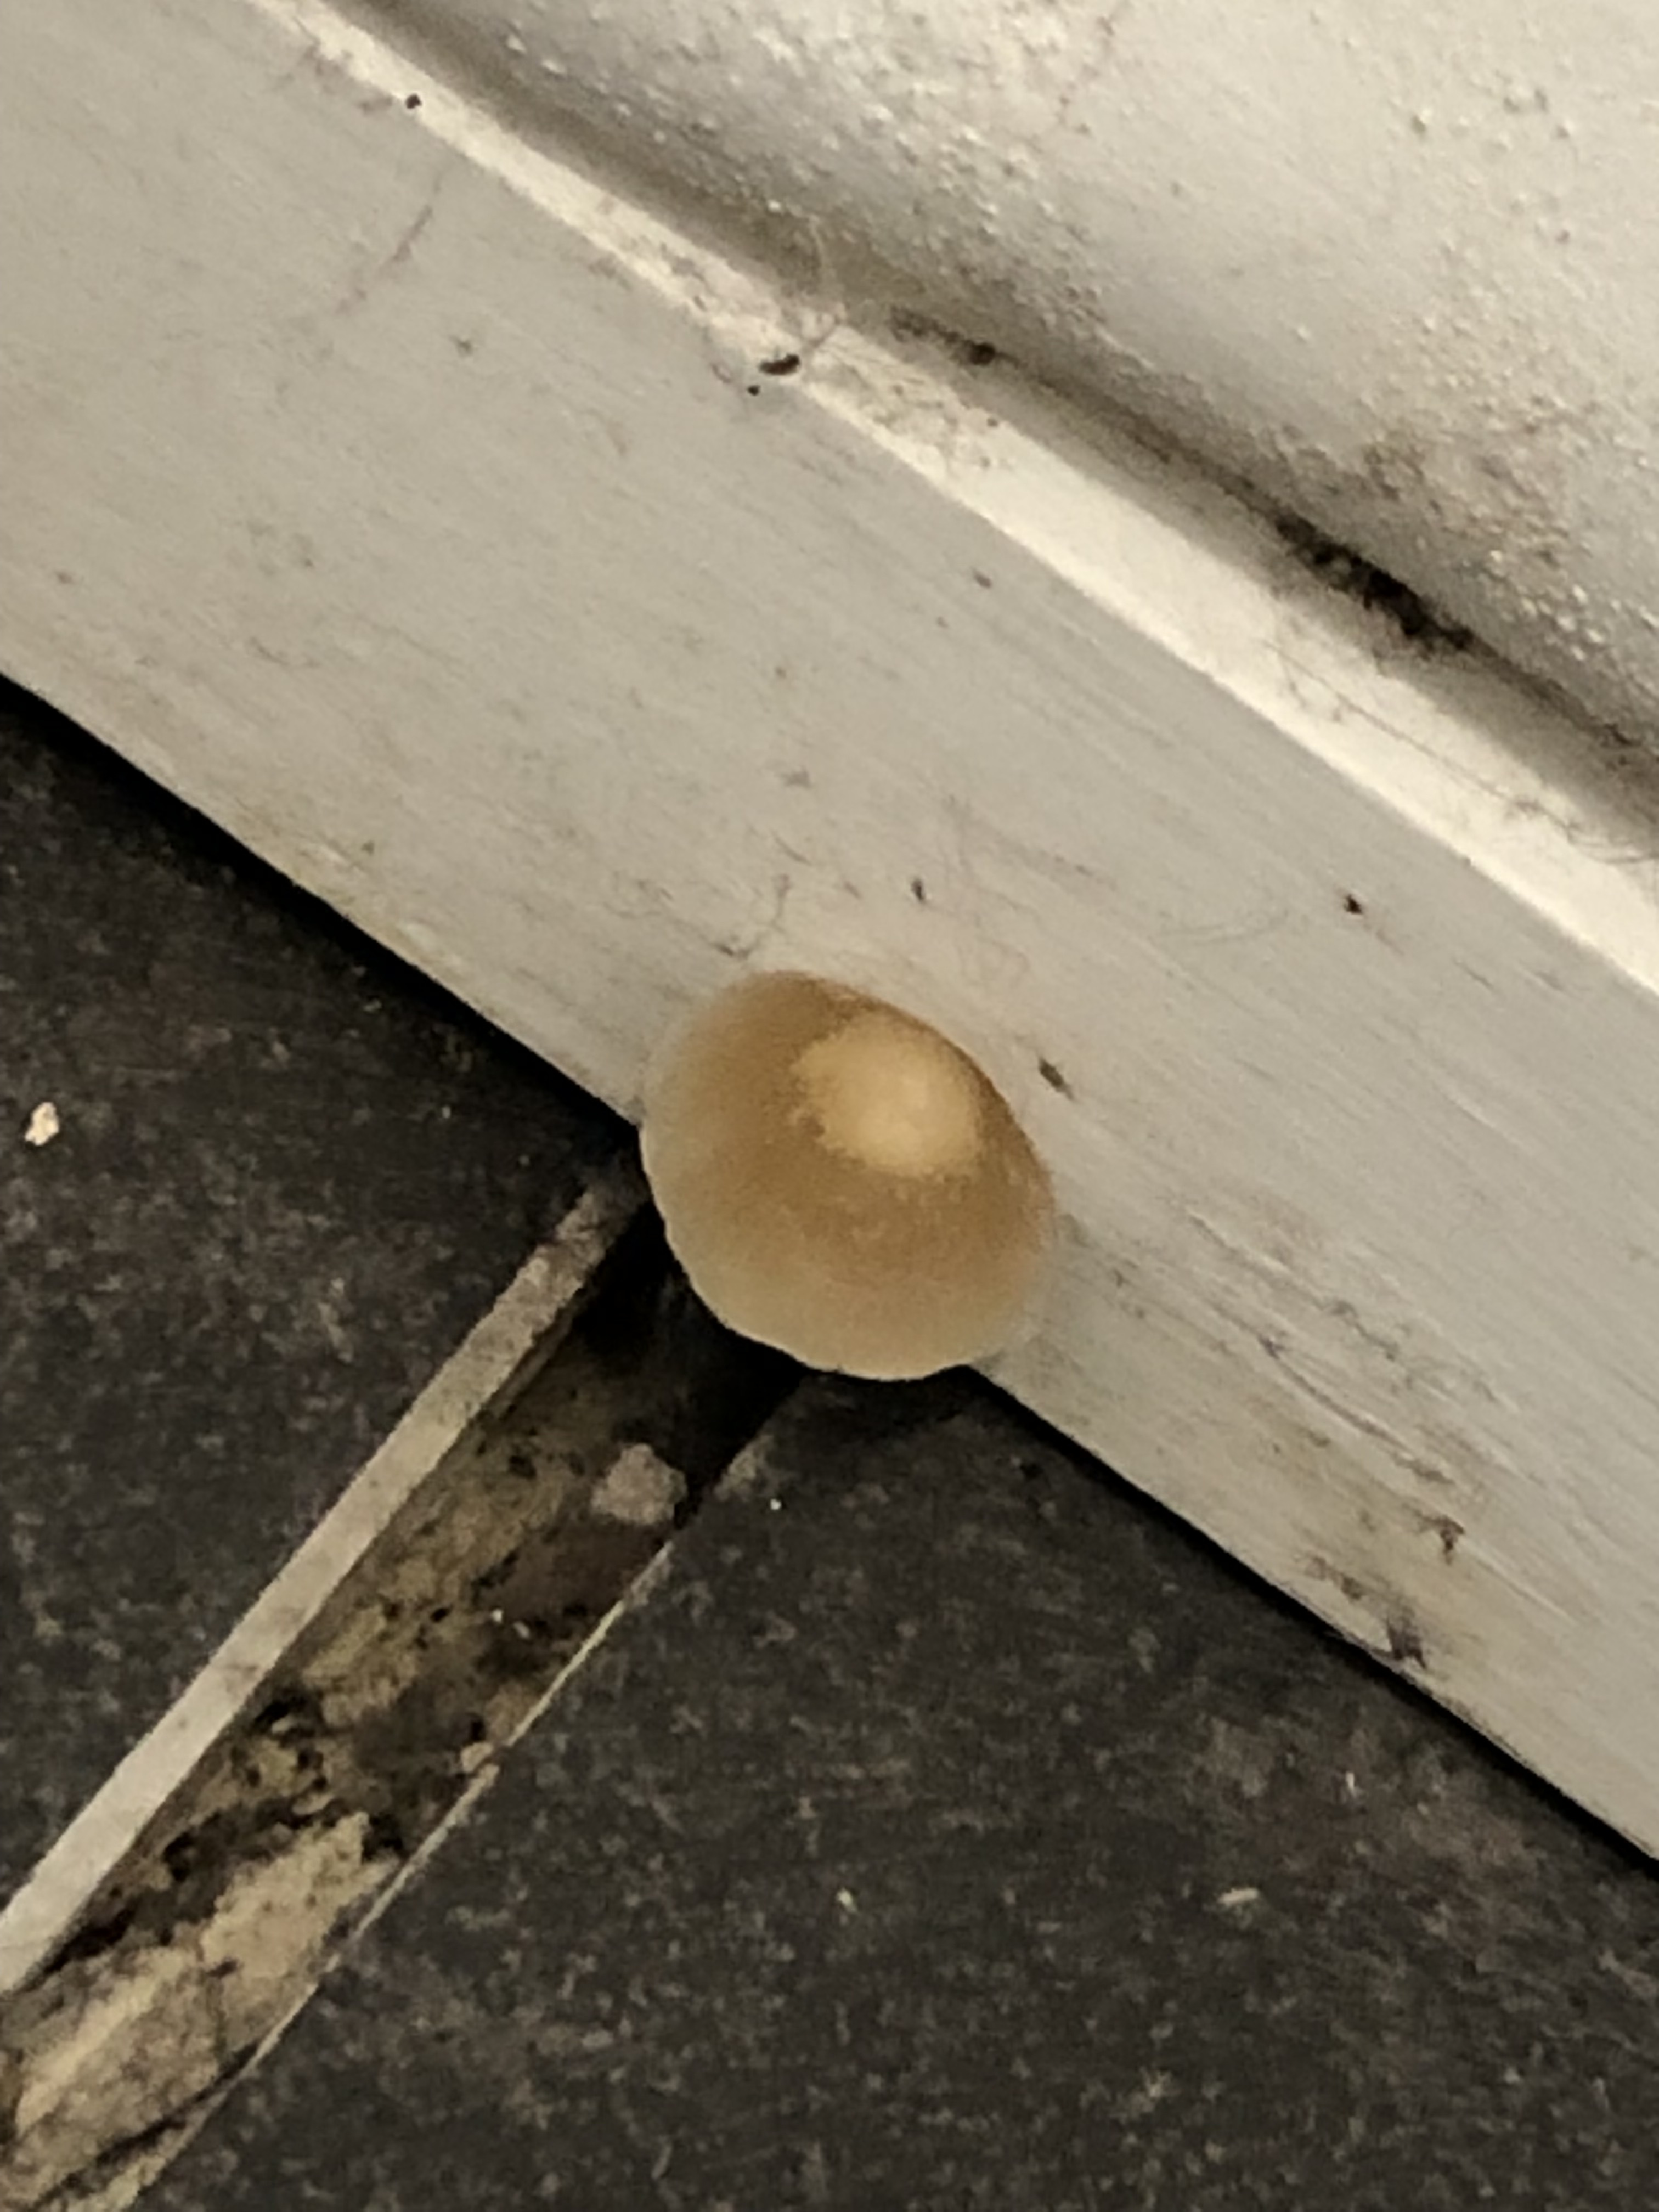
[[[942,1022],[1000,1378],[1659,1847],[1650,763],[325,9],[7,77],[0,664],[624,1108],[752,964]]]

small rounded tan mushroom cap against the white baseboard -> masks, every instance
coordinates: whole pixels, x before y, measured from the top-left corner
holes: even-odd
[[[701,1009],[650,1071],[641,1148],[699,1296],[810,1367],[898,1380],[984,1358],[1048,1248],[1048,1177],[989,1077],[814,975]]]

